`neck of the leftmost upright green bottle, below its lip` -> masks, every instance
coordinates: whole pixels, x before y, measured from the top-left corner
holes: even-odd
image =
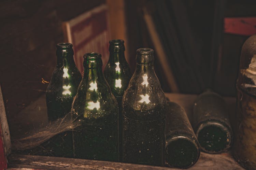
[[[74,67],[73,49],[57,49],[57,67]]]

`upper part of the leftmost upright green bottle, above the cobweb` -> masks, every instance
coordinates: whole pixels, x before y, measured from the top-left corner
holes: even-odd
[[[57,65],[46,89],[47,114],[50,121],[64,117],[71,110],[82,76],[74,62],[73,45],[57,44]]]

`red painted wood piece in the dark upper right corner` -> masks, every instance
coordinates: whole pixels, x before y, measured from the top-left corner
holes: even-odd
[[[245,36],[256,34],[256,17],[224,18],[224,32]]]

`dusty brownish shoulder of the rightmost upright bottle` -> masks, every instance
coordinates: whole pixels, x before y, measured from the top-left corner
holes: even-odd
[[[154,75],[133,75],[122,105],[126,117],[146,120],[166,117],[166,97]]]

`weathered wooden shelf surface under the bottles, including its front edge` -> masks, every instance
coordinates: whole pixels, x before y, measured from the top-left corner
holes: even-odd
[[[186,113],[191,120],[193,103],[197,95],[184,95],[184,94],[171,94],[166,93],[166,97],[170,101],[180,104],[186,110]],[[229,113],[234,113],[236,99],[226,97],[224,98],[228,104]],[[37,116],[34,114],[37,113]],[[26,107],[22,114],[27,117],[30,122],[30,126],[38,126],[40,123],[47,122],[45,97],[42,96],[38,100],[34,101],[30,106]],[[23,117],[22,116],[22,117]],[[22,119],[19,117],[18,119]],[[231,116],[232,118],[232,116]],[[24,131],[25,124],[19,126],[19,134],[26,133]],[[28,129],[27,129],[28,130]],[[8,158],[9,168],[34,168],[34,169],[170,169],[165,167],[153,167],[146,165],[134,165],[124,163],[113,163],[95,160],[83,160],[83,159],[70,159],[70,158],[58,158],[58,157],[44,157],[44,156],[31,156],[31,155],[10,155]],[[223,154],[207,154],[201,153],[198,162],[191,168],[196,169],[243,169],[235,162],[230,153]]]

